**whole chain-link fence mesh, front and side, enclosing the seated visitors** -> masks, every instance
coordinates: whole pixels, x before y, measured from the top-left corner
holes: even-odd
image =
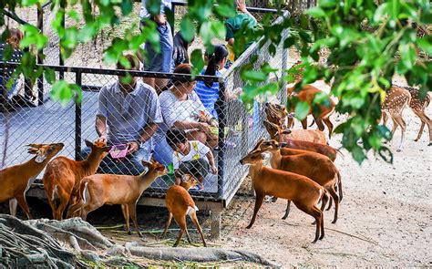
[[[260,10],[256,12],[259,14]],[[282,17],[275,23],[280,21]],[[285,30],[283,38],[287,34]],[[52,44],[56,42],[53,39]],[[53,66],[57,78],[81,86],[82,102],[62,106],[51,100],[48,94],[51,85],[39,83],[43,82],[40,79],[45,80],[39,78],[35,87],[44,93],[44,102],[37,107],[22,106],[0,114],[2,150],[7,150],[1,152],[2,155],[5,153],[5,167],[30,159],[25,147],[29,143],[63,142],[65,148],[60,155],[73,160],[87,158],[89,150],[84,140],[94,141],[104,135],[106,129],[108,145],[112,149],[102,160],[98,172],[139,174],[145,170],[140,161],[152,156],[166,165],[170,174],[154,181],[146,195],[162,197],[176,177],[180,179],[181,173],[190,173],[201,181],[190,191],[195,198],[230,199],[246,173],[246,167],[238,161],[265,135],[263,101],[283,103],[286,98],[281,91],[277,97],[255,100],[250,108],[246,108],[239,98],[245,86],[240,70],[251,57],[258,57],[257,68],[263,63],[287,67],[288,50],[281,45],[271,57],[268,46],[252,44],[221,77],[198,76],[191,81],[189,75],[129,71],[129,75],[137,78],[133,90],[118,83],[118,76],[125,76],[125,71]],[[54,47],[50,54],[57,55]],[[282,76],[278,73],[270,79]],[[158,96],[142,82],[142,78],[163,78],[172,83],[163,91],[156,87],[156,91],[161,92]],[[204,106],[202,96],[193,90],[199,87],[216,88],[211,108],[207,103]],[[153,124],[159,125],[159,129],[155,131]],[[183,131],[173,135],[170,131],[173,128]],[[182,139],[183,135],[187,141]]]

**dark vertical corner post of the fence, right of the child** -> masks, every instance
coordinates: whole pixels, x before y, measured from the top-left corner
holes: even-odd
[[[216,102],[216,112],[219,116],[219,151],[218,151],[218,198],[223,196],[223,162],[225,151],[225,126],[226,124],[226,98],[225,98],[225,79],[219,81],[219,99]]]

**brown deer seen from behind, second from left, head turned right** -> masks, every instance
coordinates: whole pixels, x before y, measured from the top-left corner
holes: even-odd
[[[102,140],[96,140],[94,144],[86,140],[86,145],[91,149],[86,160],[70,160],[59,156],[46,166],[42,181],[53,217],[58,221],[63,219],[67,204],[76,202],[81,179],[94,174],[110,150]]]

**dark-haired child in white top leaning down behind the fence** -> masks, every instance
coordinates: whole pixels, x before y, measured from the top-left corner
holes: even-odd
[[[183,174],[190,174],[200,181],[200,189],[203,190],[202,181],[204,177],[210,170],[213,174],[218,172],[214,165],[211,150],[198,140],[189,141],[186,132],[182,129],[169,129],[167,131],[167,142],[174,150],[172,163],[176,184],[180,185]],[[207,157],[207,160],[205,157]]]

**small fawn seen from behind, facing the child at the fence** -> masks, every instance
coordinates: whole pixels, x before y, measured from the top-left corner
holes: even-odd
[[[195,226],[197,226],[198,233],[201,235],[202,243],[204,246],[207,246],[204,240],[204,234],[201,231],[200,222],[198,222],[197,218],[198,208],[188,192],[190,187],[195,186],[198,182],[189,174],[186,174],[185,177],[186,181],[181,181],[180,186],[172,185],[170,189],[168,189],[167,195],[165,196],[165,203],[170,214],[165,224],[165,230],[162,234],[162,237],[164,237],[167,233],[172,217],[174,217],[174,220],[180,226],[180,233],[179,237],[177,237],[176,243],[174,243],[173,246],[179,245],[183,233],[186,233],[188,242],[190,243],[190,235],[188,233],[188,227],[186,226],[186,215],[189,215],[192,222],[195,224]]]

